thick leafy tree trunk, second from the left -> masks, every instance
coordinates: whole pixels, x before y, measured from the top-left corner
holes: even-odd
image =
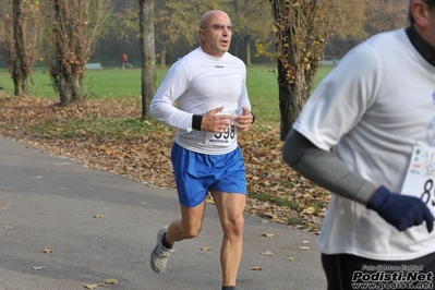
[[[85,65],[111,12],[106,0],[49,0],[47,64],[60,106],[82,100]]]

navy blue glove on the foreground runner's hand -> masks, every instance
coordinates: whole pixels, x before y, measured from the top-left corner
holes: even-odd
[[[428,232],[434,229],[434,216],[422,200],[392,193],[384,185],[375,191],[366,207],[375,210],[399,231],[419,226],[423,220],[426,221]]]

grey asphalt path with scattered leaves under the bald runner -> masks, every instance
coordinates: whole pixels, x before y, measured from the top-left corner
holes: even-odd
[[[167,270],[149,268],[158,229],[178,217],[174,192],[0,137],[1,290],[86,289],[106,279],[119,283],[97,289],[220,290],[221,231],[213,205],[200,237],[176,244]],[[326,289],[317,235],[261,220],[245,219],[238,290]],[[274,255],[259,254],[265,251]]]

